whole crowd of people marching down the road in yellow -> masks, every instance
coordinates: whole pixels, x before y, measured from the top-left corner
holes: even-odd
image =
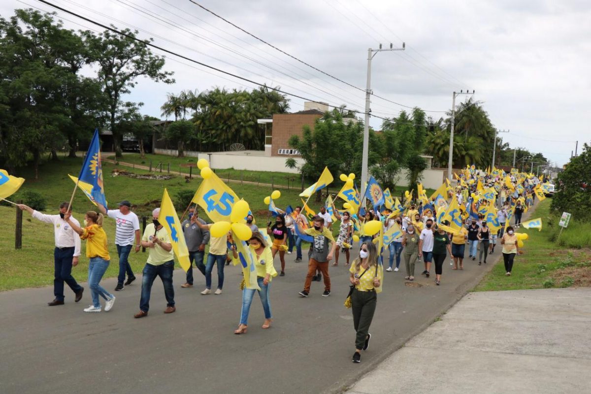
[[[434,284],[441,285],[444,262],[448,256],[452,269],[462,270],[466,249],[468,259],[473,262],[478,259],[478,265],[482,265],[487,263],[496,245],[501,244],[505,275],[510,276],[515,256],[519,253],[520,242],[515,229],[520,226],[522,214],[532,206],[535,197],[543,198],[543,181],[517,170],[505,173],[494,168],[493,171],[467,168],[456,175],[456,182],[446,181],[430,197],[420,185],[417,193],[407,192],[406,198],[402,198],[404,205],[398,202],[398,198],[393,200],[389,193],[387,198],[382,198],[382,204],[376,205],[376,198],[383,196],[372,197],[370,193],[366,195],[369,206],[354,206],[346,200],[342,208],[337,209],[329,197],[317,214],[306,204],[304,210],[301,206],[285,211],[273,210],[274,221],[268,222],[265,229],[259,228],[255,217],[249,213],[245,222],[252,236],[246,245],[254,256],[258,288],[243,286],[241,317],[234,333],[247,332],[255,292],[259,294],[265,315],[261,328],[271,327],[271,282],[277,276],[286,275],[285,255],[291,255],[294,249],[295,262],[303,261],[303,243],[308,242],[308,269],[306,277],[302,278],[304,284],[299,295],[309,297],[312,282],[323,281],[322,295],[329,297],[331,261],[334,260],[332,266],[341,263],[348,266],[351,286],[348,302],[356,331],[352,360],[360,362],[361,351],[368,349],[371,338],[369,327],[374,317],[377,294],[384,281],[382,267],[385,267],[385,272],[397,272],[401,261],[404,261],[404,279],[414,281],[415,265],[423,263],[421,275],[426,278],[433,275],[434,265]],[[362,201],[361,198],[359,201]],[[148,315],[151,288],[157,276],[164,285],[167,301],[164,313],[176,311],[174,252],[170,234],[159,221],[160,209],[152,211],[152,223],[141,235],[138,217],[131,211],[129,201],[121,201],[116,210],[107,210],[98,204],[99,211],[88,211],[82,225],[72,216],[72,206],[68,203],[60,204],[59,214],[56,215],[42,214],[23,204],[18,206],[35,219],[51,223],[54,227],[54,299],[48,305],[64,304],[64,282],[74,292],[75,302],[82,299],[84,288],[73,278],[72,267],[79,262],[80,241],[85,240],[92,304],[84,311],[101,312],[100,298],[105,301],[105,311],[113,308],[115,295],[100,285],[111,262],[108,235],[102,228],[103,220],[110,218],[116,222],[115,245],[119,258],[118,282],[113,291],[122,291],[135,281],[128,256],[134,249],[138,252],[140,248],[146,248],[148,258],[142,271],[139,311],[134,317]],[[376,227],[376,223],[379,226]],[[205,288],[200,292],[202,295],[212,293],[214,266],[217,269],[217,286],[213,294],[220,295],[225,266],[232,262],[238,264],[241,259],[232,232],[213,236],[210,231],[212,226],[199,217],[197,207],[191,208],[188,218],[181,223],[191,263],[181,288],[194,286],[194,262],[205,278]],[[358,253],[352,252],[354,245],[359,245]],[[275,271],[276,259],[279,273]]]

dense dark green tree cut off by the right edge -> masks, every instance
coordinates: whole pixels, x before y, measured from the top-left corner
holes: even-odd
[[[566,170],[558,174],[556,185],[551,209],[569,212],[579,220],[591,220],[591,145],[584,144],[583,152],[570,159]]]

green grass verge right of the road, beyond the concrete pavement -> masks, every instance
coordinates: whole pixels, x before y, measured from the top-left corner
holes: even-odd
[[[499,261],[482,279],[474,291],[499,291],[570,287],[591,285],[589,249],[569,249],[551,242],[556,231],[549,223],[550,198],[538,204],[531,218],[541,217],[543,230],[518,230],[530,236],[525,240],[523,255],[515,257],[511,276],[505,276],[505,267]],[[554,224],[555,226],[556,224]],[[501,247],[500,245],[498,246]]]

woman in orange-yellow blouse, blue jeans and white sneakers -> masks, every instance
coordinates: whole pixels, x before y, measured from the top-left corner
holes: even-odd
[[[80,239],[86,239],[86,257],[88,263],[88,286],[92,292],[92,305],[85,308],[85,312],[100,312],[100,297],[105,299],[105,311],[110,311],[115,303],[115,296],[100,286],[100,279],[105,275],[105,271],[111,263],[111,256],[107,250],[107,235],[103,230],[103,214],[95,211],[86,212],[84,225],[85,228],[77,226],[70,217],[72,213],[68,212],[64,220],[80,235]]]

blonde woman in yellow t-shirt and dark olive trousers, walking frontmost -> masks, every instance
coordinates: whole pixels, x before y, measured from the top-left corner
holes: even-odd
[[[353,363],[361,362],[361,350],[369,347],[369,325],[374,318],[375,306],[378,302],[377,293],[381,292],[384,269],[378,265],[378,250],[373,242],[363,242],[359,257],[353,261],[349,269],[349,280],[355,285],[351,294],[351,310],[355,337],[355,353]]]

